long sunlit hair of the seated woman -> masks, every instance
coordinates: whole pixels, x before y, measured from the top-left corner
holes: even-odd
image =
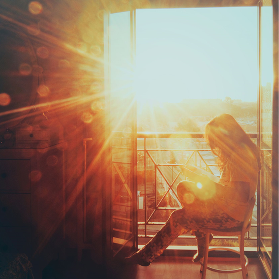
[[[261,169],[259,148],[230,114],[224,113],[211,119],[205,127],[204,137],[212,153],[218,156],[217,164],[221,171],[230,156],[243,152],[243,148],[254,154],[258,170]]]

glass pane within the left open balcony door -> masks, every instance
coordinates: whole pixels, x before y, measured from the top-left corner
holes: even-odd
[[[130,12],[110,15],[110,114],[114,255],[133,247],[132,63]],[[125,247],[125,249],[123,249]]]

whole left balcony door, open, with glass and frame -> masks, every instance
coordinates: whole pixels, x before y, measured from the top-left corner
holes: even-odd
[[[136,103],[133,89],[134,12],[108,14],[107,80],[110,127],[110,251],[137,247]],[[106,26],[105,26],[106,27]],[[106,42],[106,41],[105,41]]]

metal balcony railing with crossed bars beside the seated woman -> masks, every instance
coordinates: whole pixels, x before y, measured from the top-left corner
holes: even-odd
[[[249,135],[253,141],[257,139],[256,133]],[[144,244],[147,238],[156,234],[165,224],[170,213],[181,207],[176,185],[186,179],[181,172],[182,165],[189,163],[215,176],[220,176],[220,172],[202,133],[138,133],[137,138],[138,236],[145,239],[140,241],[139,238],[139,243]],[[253,211],[252,223],[251,230],[246,235],[246,244],[255,247],[257,205]],[[191,235],[182,235],[179,238],[183,245],[191,245],[191,240],[192,242],[194,240]],[[222,241],[234,242],[237,237],[214,237],[214,239],[220,239],[220,245],[224,245]]]

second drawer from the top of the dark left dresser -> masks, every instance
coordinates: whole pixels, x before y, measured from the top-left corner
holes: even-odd
[[[0,227],[31,226],[31,195],[0,194]]]

